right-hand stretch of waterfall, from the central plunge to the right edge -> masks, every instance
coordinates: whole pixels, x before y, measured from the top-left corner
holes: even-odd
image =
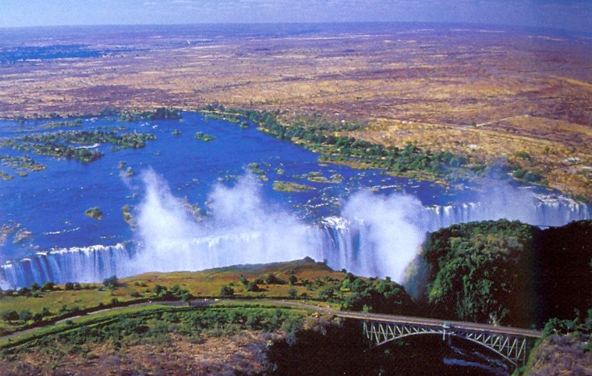
[[[492,205],[491,202],[465,202],[445,206],[415,207],[416,220],[409,218],[405,223],[390,223],[377,228],[367,220],[342,217],[328,217],[321,220],[323,230],[322,257],[333,269],[347,269],[361,276],[391,276],[394,280],[404,280],[404,269],[416,255],[423,236],[418,232],[433,232],[442,227],[457,223],[480,220],[520,220],[541,227],[566,225],[574,220],[591,218],[589,206],[582,202],[558,195],[533,195],[527,206]],[[354,197],[355,200],[355,197]],[[372,207],[376,199],[363,200],[360,206]],[[524,203],[524,202],[522,202]],[[392,208],[392,202],[391,210]],[[507,202],[501,202],[506,205]],[[375,208],[373,208],[375,209]]]

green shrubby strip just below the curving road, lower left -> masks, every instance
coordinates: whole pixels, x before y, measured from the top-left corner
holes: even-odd
[[[20,375],[79,369],[68,365],[68,362],[82,360],[86,363],[90,359],[97,359],[100,357],[98,354],[102,353],[101,347],[105,345],[111,350],[109,358],[114,359],[116,355],[121,355],[132,347],[142,349],[146,346],[156,346],[160,348],[157,352],[161,352],[173,343],[190,343],[197,347],[211,338],[234,338],[244,336],[245,333],[262,336],[268,340],[293,338],[294,333],[300,329],[305,315],[301,310],[256,306],[124,308],[93,317],[72,319],[45,331],[43,335],[15,340],[5,345],[0,353],[0,373],[7,374],[7,370],[15,368]],[[28,359],[31,353],[36,354],[36,358],[46,360],[31,361]],[[195,353],[192,352],[194,355]],[[177,355],[179,354],[181,352],[177,352]],[[151,354],[151,357],[153,356],[154,354]],[[259,354],[259,359],[261,356],[264,357],[264,354]],[[175,359],[176,369],[179,370],[183,364],[179,361],[179,356]],[[195,363],[195,359],[192,363]],[[136,367],[150,368],[146,363]],[[113,369],[114,364],[96,364],[93,370],[87,369],[86,372],[112,373]]]

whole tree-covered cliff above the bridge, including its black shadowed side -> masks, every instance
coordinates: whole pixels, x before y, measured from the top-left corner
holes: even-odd
[[[447,319],[542,326],[592,306],[592,221],[540,230],[508,220],[427,236],[425,303]]]

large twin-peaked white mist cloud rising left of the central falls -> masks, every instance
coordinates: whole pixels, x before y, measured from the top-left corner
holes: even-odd
[[[144,172],[146,196],[137,218],[143,271],[199,270],[318,257],[317,232],[263,202],[259,186],[245,176],[236,186],[217,185],[208,197],[211,215],[192,218],[155,172]]]

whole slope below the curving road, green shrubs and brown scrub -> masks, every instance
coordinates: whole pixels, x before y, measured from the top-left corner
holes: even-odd
[[[0,374],[61,374],[70,373],[73,369],[82,374],[110,374],[121,364],[109,359],[118,358],[128,359],[122,363],[129,370],[146,370],[146,367],[151,368],[147,365],[149,359],[153,359],[155,354],[161,356],[163,352],[172,352],[172,356],[165,356],[166,363],[172,369],[187,368],[188,365],[195,368],[199,363],[195,355],[204,350],[215,353],[212,354],[212,359],[235,363],[235,351],[222,349],[216,353],[209,346],[219,341],[234,342],[237,335],[249,339],[246,342],[240,341],[242,345],[235,350],[251,356],[245,359],[248,363],[243,362],[238,367],[235,365],[235,368],[243,369],[250,363],[261,368],[264,367],[265,359],[262,351],[270,344],[266,340],[294,338],[295,333],[303,326],[305,317],[307,312],[301,309],[252,305],[223,309],[215,306],[120,308],[92,317],[73,319],[34,334],[13,338],[10,342],[3,340]],[[199,346],[203,343],[208,343],[205,348]],[[185,351],[179,347],[188,344],[198,346]],[[92,361],[93,359],[98,360]],[[208,361],[202,366],[209,368]],[[157,366],[149,373],[152,374],[159,368]],[[171,372],[173,371],[167,374]],[[188,372],[194,373],[195,370]]]

